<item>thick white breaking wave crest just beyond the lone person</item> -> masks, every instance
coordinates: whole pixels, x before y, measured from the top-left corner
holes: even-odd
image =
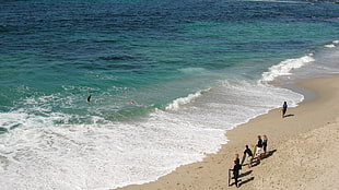
[[[315,61],[313,55],[301,57],[299,59],[287,59],[279,64],[272,66],[267,72],[262,73],[262,79],[259,82],[271,82],[279,76],[291,75],[292,71],[302,68],[311,62]]]

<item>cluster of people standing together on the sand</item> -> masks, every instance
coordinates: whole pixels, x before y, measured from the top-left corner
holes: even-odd
[[[233,171],[235,187],[238,188],[239,170],[242,169],[242,166],[244,165],[246,156],[247,156],[246,165],[248,168],[253,166],[253,161],[255,157],[257,158],[257,162],[260,162],[262,156],[267,155],[267,141],[268,141],[267,135],[262,135],[262,139],[261,139],[261,135],[258,135],[258,142],[255,144],[253,151],[248,147],[248,145],[245,145],[245,151],[244,151],[242,162],[239,159],[239,155],[235,154],[233,169],[230,169]]]

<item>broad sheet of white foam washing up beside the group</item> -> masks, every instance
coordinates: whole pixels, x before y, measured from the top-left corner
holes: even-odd
[[[0,165],[0,185],[109,189],[142,183],[201,159],[224,141],[220,130],[200,129],[172,116],[159,110],[145,123],[67,126],[30,118],[24,127],[0,136],[1,158],[7,161]]]

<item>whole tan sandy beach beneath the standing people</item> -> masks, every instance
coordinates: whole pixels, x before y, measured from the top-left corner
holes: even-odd
[[[239,189],[338,189],[339,76],[299,85],[315,92],[316,98],[289,108],[285,118],[280,109],[273,109],[226,131],[229,143],[202,162],[178,167],[156,181],[121,189],[235,189],[227,185],[234,155],[242,157],[245,145],[253,146],[259,134],[268,136],[270,154],[252,168],[243,166]]]

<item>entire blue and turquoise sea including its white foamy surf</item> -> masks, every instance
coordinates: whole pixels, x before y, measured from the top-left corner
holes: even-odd
[[[339,73],[336,1],[0,2],[4,189],[155,180]]]

